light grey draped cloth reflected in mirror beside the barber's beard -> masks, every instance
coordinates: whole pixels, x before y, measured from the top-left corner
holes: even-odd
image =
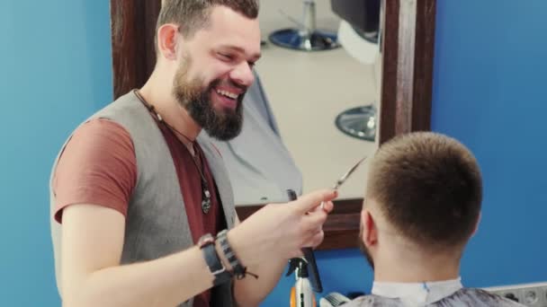
[[[239,136],[221,142],[205,131],[200,141],[219,148],[229,171],[237,205],[287,201],[287,189],[302,193],[302,175],[282,143],[264,88],[256,81],[243,100],[243,127]]]

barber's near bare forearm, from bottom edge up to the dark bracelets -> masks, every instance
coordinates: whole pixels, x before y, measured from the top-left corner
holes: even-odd
[[[212,286],[213,276],[193,247],[162,259],[104,268],[64,285],[64,306],[174,306]]]

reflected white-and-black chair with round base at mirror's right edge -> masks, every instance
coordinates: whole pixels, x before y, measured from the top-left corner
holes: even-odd
[[[331,0],[332,10],[342,18],[338,39],[348,54],[372,65],[379,53],[381,0]],[[377,127],[375,103],[345,110],[336,127],[349,136],[374,141]]]

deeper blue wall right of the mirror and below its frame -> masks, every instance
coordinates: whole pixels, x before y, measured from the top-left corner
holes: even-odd
[[[462,260],[469,286],[547,281],[547,1],[437,1],[432,128],[476,154],[479,232]],[[325,293],[370,291],[357,250],[318,253]],[[264,306],[288,302],[283,278]]]

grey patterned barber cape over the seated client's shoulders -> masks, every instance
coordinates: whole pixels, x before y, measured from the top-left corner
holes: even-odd
[[[416,303],[403,303],[398,298],[381,297],[378,295],[365,295],[356,298],[351,303],[345,303],[344,307],[420,307]],[[517,307],[524,306],[497,294],[487,291],[463,288],[456,293],[444,297],[434,303],[424,304],[427,307]]]

